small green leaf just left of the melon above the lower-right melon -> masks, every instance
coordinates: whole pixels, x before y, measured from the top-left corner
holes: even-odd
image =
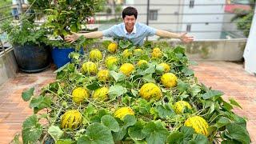
[[[175,115],[174,110],[168,104],[157,106],[157,110],[160,118],[170,118]]]

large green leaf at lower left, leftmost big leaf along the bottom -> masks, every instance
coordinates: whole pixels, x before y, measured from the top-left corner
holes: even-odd
[[[37,115],[31,115],[22,124],[22,141],[27,143],[37,143],[42,134],[42,125],[38,123]]]

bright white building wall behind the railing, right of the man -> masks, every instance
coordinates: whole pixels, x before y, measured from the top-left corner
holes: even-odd
[[[189,5],[190,0],[184,0],[184,4]],[[198,4],[223,4],[222,6],[196,6]],[[225,8],[225,0],[194,0],[194,7],[184,6],[183,14],[198,14],[198,15],[183,15],[182,22],[191,22],[191,31],[206,31],[203,33],[189,33],[194,35],[196,39],[217,39],[221,36],[223,13]],[[212,14],[221,13],[221,14]],[[209,22],[202,24],[193,24],[192,22]],[[182,31],[186,31],[186,24],[182,25]],[[219,31],[219,32],[207,32]]]

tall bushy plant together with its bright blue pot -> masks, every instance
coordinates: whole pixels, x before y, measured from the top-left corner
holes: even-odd
[[[68,55],[71,51],[81,50],[89,40],[81,38],[81,41],[70,44],[64,41],[64,37],[70,31],[78,32],[82,24],[86,24],[86,18],[94,12],[102,10],[105,0],[80,0],[80,1],[43,1],[38,0],[34,9],[46,14],[46,26],[51,32],[50,46],[53,47],[52,56],[54,63],[59,68],[70,62]],[[45,9],[43,9],[45,8]],[[76,49],[75,49],[76,48]],[[82,50],[81,50],[82,51]]]

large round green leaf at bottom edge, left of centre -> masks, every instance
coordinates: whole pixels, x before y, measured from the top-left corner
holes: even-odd
[[[78,138],[78,144],[91,143],[113,143],[111,131],[101,123],[93,123],[86,129],[86,134]]]

